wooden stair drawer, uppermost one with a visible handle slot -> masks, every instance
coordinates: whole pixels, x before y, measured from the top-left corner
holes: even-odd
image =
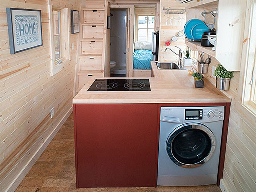
[[[84,11],[84,23],[104,23],[105,11],[89,10]]]

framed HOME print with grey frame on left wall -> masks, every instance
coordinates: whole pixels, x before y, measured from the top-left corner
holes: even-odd
[[[43,45],[41,10],[6,8],[10,53]]]

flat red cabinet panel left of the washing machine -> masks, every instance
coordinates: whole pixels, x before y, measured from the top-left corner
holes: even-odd
[[[77,187],[156,187],[158,104],[74,104]]]

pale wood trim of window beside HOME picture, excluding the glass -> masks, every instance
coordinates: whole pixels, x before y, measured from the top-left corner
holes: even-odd
[[[53,9],[59,9],[61,10],[61,28],[64,30],[64,34],[61,35],[61,43],[64,43],[65,50],[61,50],[61,58],[55,60],[55,54],[54,54],[54,30],[53,30]],[[60,72],[64,65],[68,63],[69,60],[71,60],[71,49],[70,49],[70,10],[69,8],[63,8],[63,7],[53,7],[52,5],[48,5],[48,12],[49,12],[49,35],[50,35],[50,63],[51,63],[51,75],[55,75],[58,72]],[[63,19],[63,14],[65,15],[66,19]],[[67,22],[68,21],[68,22]],[[63,26],[63,23],[65,23],[65,26]],[[63,45],[62,45],[63,46]]]

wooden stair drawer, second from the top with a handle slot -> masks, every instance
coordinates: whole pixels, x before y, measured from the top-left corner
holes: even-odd
[[[102,39],[103,38],[103,25],[83,25],[83,38],[89,39]]]

